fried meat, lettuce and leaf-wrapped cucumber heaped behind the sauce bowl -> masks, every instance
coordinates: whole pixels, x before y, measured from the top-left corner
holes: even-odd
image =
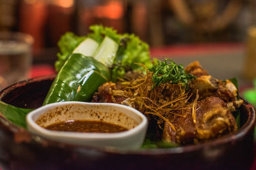
[[[151,62],[147,43],[133,34],[100,25],[91,29],[86,37],[69,32],[60,39],[58,74],[43,105],[92,97],[93,102],[125,104],[148,116],[155,127],[148,131],[150,141],[179,145],[237,131],[236,110],[243,100],[231,80],[212,78],[198,62],[186,69],[172,60]]]

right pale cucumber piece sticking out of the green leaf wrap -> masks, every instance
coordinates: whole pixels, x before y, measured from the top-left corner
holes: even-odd
[[[93,57],[99,62],[102,62],[105,66],[110,67],[113,64],[117,50],[118,44],[106,36],[93,54]]]

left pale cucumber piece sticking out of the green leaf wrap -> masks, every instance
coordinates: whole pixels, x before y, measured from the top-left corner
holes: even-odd
[[[81,53],[85,56],[92,57],[98,46],[99,44],[95,40],[92,38],[86,38],[75,48],[72,53]]]

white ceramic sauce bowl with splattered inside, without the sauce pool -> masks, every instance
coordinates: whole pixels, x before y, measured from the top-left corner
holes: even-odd
[[[116,133],[65,132],[45,129],[47,125],[67,120],[98,120],[129,129]],[[44,138],[75,145],[138,149],[147,132],[148,120],[140,111],[113,103],[61,102],[31,111],[28,130]]]

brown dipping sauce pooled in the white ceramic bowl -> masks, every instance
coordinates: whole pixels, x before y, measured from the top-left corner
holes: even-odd
[[[124,132],[128,129],[120,125],[111,124],[93,120],[68,120],[51,124],[46,129],[52,131],[69,131],[69,132],[92,132],[92,133],[115,133]]]

